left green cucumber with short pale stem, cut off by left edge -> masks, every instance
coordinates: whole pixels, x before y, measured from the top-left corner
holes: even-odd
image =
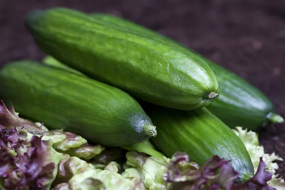
[[[30,60],[1,69],[0,98],[50,129],[105,146],[129,146],[156,135],[150,118],[124,91]]]

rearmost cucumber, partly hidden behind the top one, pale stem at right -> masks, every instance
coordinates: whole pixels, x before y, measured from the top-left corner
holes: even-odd
[[[176,43],[148,28],[122,18],[104,13],[94,13],[93,18],[104,21],[110,25],[117,24],[121,27],[135,30],[145,35],[155,36],[164,43]],[[180,46],[177,44],[177,46]],[[272,102],[253,85],[232,72],[211,62],[193,50],[188,50],[204,59],[218,79],[221,93],[219,98],[207,106],[207,109],[220,118],[226,125],[234,128],[242,126],[249,130],[257,131],[260,126],[265,126],[268,121],[273,123],[284,122],[283,118],[273,113]]]

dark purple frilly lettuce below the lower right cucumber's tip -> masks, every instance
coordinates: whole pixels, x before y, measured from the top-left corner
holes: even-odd
[[[189,157],[182,152],[176,152],[169,165],[167,181],[171,182],[169,190],[276,190],[269,187],[267,181],[271,174],[265,171],[265,163],[260,158],[256,174],[243,184],[235,184],[238,173],[228,164],[229,161],[213,156],[201,167],[193,164],[189,170],[181,171],[181,162],[188,162]],[[220,171],[216,174],[216,172]]]

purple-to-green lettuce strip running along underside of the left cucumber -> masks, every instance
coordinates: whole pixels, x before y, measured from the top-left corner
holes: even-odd
[[[91,159],[104,150],[103,146],[89,145],[82,136],[62,130],[48,131],[42,123],[32,123],[22,119],[15,112],[13,105],[7,108],[2,100],[0,101],[0,125],[12,129],[14,127],[23,128],[29,132],[28,139],[38,136],[43,141],[52,141],[54,149],[70,156]]]

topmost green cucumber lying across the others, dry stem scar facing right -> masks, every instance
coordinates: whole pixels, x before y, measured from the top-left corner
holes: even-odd
[[[192,110],[219,95],[208,64],[175,43],[66,8],[30,12],[25,23],[47,54],[138,99]]]

